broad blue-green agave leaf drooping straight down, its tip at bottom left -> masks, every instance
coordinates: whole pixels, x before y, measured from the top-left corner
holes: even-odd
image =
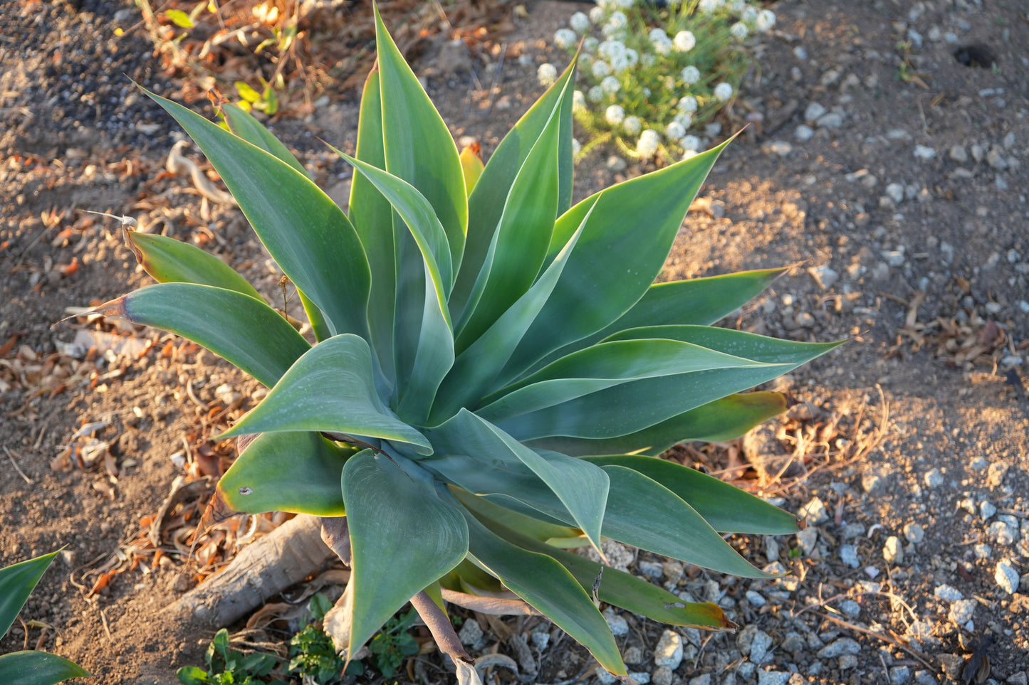
[[[352,457],[343,469],[343,498],[353,552],[353,654],[465,557],[468,527],[463,508],[440,500],[431,476],[399,456],[368,449]]]

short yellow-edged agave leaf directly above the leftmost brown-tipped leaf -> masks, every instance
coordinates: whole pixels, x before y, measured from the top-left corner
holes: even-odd
[[[194,245],[167,236],[126,231],[136,261],[158,283],[196,283],[261,299],[245,278],[232,266]]]

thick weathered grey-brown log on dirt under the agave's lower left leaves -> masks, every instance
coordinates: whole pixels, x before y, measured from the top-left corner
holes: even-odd
[[[211,628],[224,627],[334,555],[322,542],[321,518],[300,514],[244,547],[224,571],[189,590],[168,611]]]

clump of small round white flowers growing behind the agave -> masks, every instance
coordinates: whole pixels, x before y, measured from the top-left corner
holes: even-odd
[[[745,40],[775,25],[753,0],[685,0],[664,7],[640,0],[598,0],[554,35],[579,50],[575,119],[589,135],[578,156],[607,142],[637,159],[671,164],[696,154],[706,127],[732,104],[750,57]],[[581,47],[579,42],[581,41]],[[552,83],[557,69],[539,68]],[[712,124],[716,125],[716,124]]]

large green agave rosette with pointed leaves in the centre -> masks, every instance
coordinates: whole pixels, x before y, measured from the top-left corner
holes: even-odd
[[[377,15],[349,214],[249,114],[152,96],[295,285],[314,340],[198,248],[129,233],[159,283],[98,309],[184,335],[271,388],[218,490],[239,511],[346,515],[351,653],[412,598],[513,592],[625,674],[598,610],[732,626],[712,604],[572,553],[605,538],[765,577],[721,533],[796,519],[655,457],[782,411],[739,394],[830,350],[711,324],[779,272],[653,284],[723,146],[572,199],[574,64],[485,168]],[[334,148],[333,148],[334,149]],[[513,597],[513,596],[512,596]],[[441,603],[440,603],[441,604]]]

